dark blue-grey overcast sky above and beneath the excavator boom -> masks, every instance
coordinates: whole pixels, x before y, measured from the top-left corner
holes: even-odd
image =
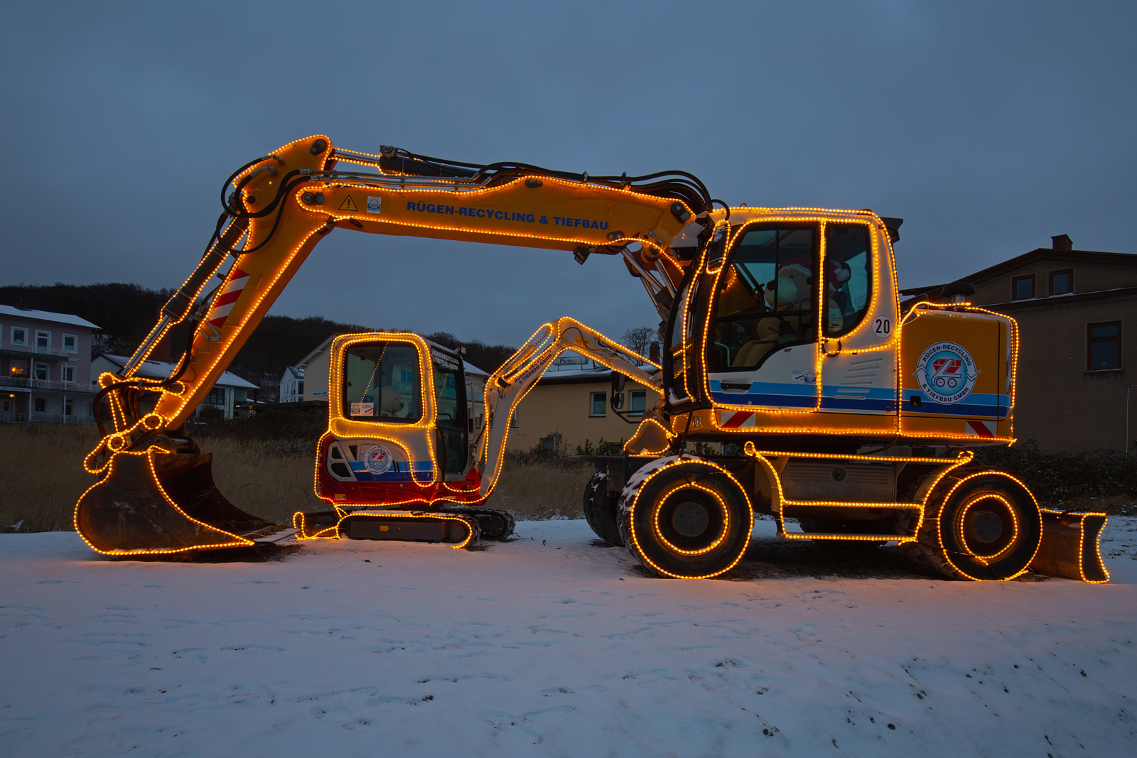
[[[176,286],[244,161],[338,147],[905,219],[902,286],[1137,252],[1135,2],[6,2],[6,283]],[[273,313],[517,344],[657,322],[616,258],[337,230]]]

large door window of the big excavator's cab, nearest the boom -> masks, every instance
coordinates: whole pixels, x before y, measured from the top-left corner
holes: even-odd
[[[818,339],[813,227],[756,228],[719,280],[711,372],[754,370],[781,348]]]

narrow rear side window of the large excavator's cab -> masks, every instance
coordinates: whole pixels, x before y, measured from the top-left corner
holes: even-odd
[[[869,309],[872,249],[863,224],[825,224],[825,335],[853,331]]]

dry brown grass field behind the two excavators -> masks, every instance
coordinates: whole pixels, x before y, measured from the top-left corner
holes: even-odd
[[[72,530],[75,501],[96,477],[83,472],[83,456],[98,439],[90,424],[0,425],[0,531]],[[269,520],[290,524],[298,510],[325,510],[312,491],[309,453],[294,440],[201,436],[214,453],[214,481],[233,505]],[[581,518],[581,497],[590,466],[554,463],[506,464],[489,507],[518,519]]]

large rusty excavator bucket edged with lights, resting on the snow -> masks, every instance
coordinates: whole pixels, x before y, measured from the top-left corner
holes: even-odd
[[[211,455],[156,448],[116,455],[76,503],[75,528],[108,555],[252,547],[296,532],[225,499],[214,484]]]

